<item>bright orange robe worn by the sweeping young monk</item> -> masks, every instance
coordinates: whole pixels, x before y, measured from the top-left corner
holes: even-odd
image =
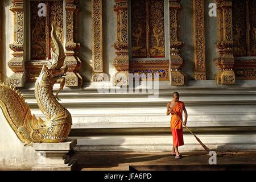
[[[184,109],[184,102],[177,101],[176,105],[172,108],[172,110],[179,115],[179,117],[182,119],[182,113]],[[173,144],[174,146],[183,146],[183,129],[182,129],[182,123],[179,121],[179,118],[174,113],[172,114],[171,118],[171,132],[172,132],[172,138],[173,138]]]

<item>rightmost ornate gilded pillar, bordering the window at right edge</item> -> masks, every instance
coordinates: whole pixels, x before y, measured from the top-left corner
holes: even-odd
[[[217,84],[235,84],[233,35],[232,35],[232,1],[217,0],[218,6],[218,53],[215,64],[220,69],[216,75]]]

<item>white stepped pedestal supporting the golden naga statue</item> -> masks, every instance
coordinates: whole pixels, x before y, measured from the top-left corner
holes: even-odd
[[[69,158],[68,152],[77,144],[76,139],[68,139],[61,143],[34,143],[34,150],[38,153],[38,164],[32,171],[71,171],[76,159]]]

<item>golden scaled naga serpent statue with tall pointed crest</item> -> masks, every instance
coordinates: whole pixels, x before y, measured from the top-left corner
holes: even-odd
[[[59,102],[57,95],[65,84],[67,64],[64,64],[65,52],[57,38],[52,25],[51,38],[54,51],[51,48],[51,60],[43,65],[42,71],[35,83],[35,98],[40,110],[46,115],[46,121],[31,114],[19,90],[0,82],[0,107],[7,121],[24,146],[33,143],[57,143],[68,138],[71,130],[71,114]],[[53,95],[53,85],[60,83],[60,88]]]

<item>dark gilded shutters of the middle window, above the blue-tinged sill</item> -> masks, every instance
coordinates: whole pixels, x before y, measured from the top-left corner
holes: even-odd
[[[165,57],[164,1],[131,1],[132,57]]]

